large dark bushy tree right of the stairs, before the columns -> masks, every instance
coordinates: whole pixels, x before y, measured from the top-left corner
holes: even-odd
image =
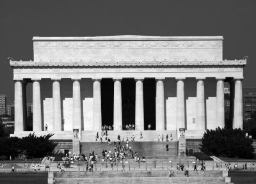
[[[239,129],[216,128],[207,130],[202,138],[200,150],[207,155],[230,158],[253,158],[252,139]]]

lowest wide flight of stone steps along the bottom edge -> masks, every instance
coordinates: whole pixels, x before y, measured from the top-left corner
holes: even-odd
[[[172,172],[168,177],[166,171],[93,171],[93,172],[65,172],[54,173],[55,183],[225,183],[221,171],[189,172],[189,177],[184,172]]]

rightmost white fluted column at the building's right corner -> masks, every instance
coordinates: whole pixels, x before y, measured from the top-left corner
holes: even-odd
[[[234,79],[234,82],[235,82],[235,98],[234,98],[233,128],[241,128],[243,130],[242,79]]]

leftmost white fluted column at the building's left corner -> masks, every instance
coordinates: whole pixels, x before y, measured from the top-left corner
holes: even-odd
[[[14,103],[15,103],[15,133],[24,131],[24,105],[23,105],[23,96],[24,94],[22,89],[23,80],[15,81],[15,96],[14,96]]]

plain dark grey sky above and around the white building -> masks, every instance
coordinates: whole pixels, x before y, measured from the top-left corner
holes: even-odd
[[[7,59],[33,59],[33,36],[224,36],[223,59],[243,59],[243,87],[256,87],[256,1],[0,1],[0,94],[13,102]],[[31,85],[28,86],[31,102]]]

